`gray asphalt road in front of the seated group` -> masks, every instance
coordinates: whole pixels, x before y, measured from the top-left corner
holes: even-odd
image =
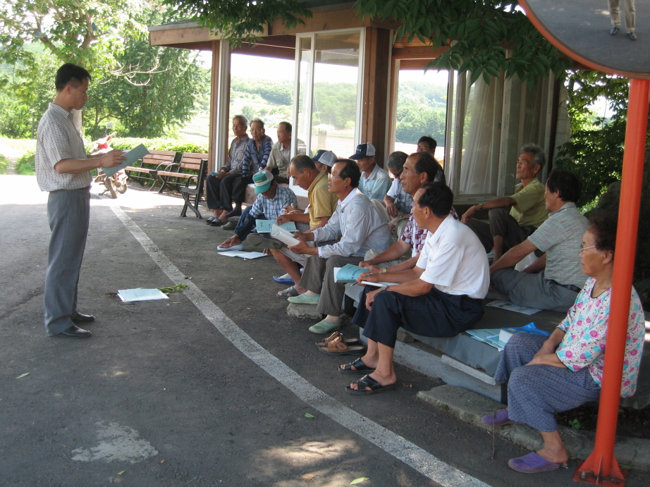
[[[0,176],[0,189],[0,486],[570,484],[575,460],[519,474],[506,462],[526,450],[418,400],[434,378],[400,367],[393,393],[345,393],[348,360],[286,316],[275,261],[220,257],[229,233],[179,218],[174,197],[92,199],[79,302],[93,336],[48,338],[46,195],[30,176]],[[166,301],[110,295],[178,283],[169,275],[194,286]],[[627,486],[649,481],[632,471]]]

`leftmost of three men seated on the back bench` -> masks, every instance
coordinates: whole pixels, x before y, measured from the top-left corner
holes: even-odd
[[[222,213],[228,211],[221,208],[221,187],[229,195],[233,192],[233,184],[235,179],[242,173],[242,166],[244,164],[244,153],[246,151],[246,144],[250,140],[246,130],[248,128],[248,121],[243,115],[235,115],[233,117],[233,134],[235,138],[231,142],[231,149],[228,152],[228,160],[226,165],[219,170],[218,175],[208,175],[205,185],[205,200],[208,209],[212,210],[213,216],[207,219],[207,225],[219,218]],[[227,178],[229,175],[231,178]],[[219,224],[217,224],[218,226]]]

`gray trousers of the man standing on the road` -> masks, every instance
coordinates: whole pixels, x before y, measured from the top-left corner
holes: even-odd
[[[52,235],[45,274],[45,331],[57,335],[77,315],[77,283],[90,221],[90,187],[49,193],[47,218]]]

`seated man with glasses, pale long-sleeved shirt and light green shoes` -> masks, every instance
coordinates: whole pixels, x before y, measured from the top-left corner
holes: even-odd
[[[292,173],[293,174],[293,173]],[[369,249],[386,249],[391,245],[391,231],[386,216],[381,216],[368,197],[357,189],[361,171],[355,161],[338,159],[329,175],[328,190],[338,197],[336,211],[322,228],[314,228],[292,245],[296,254],[309,254],[300,285],[305,294],[290,297],[289,302],[315,304],[324,320],[309,328],[312,333],[329,333],[341,328],[341,304],[345,285],[334,282],[334,267],[359,264]],[[336,240],[331,245],[311,247],[308,242]]]

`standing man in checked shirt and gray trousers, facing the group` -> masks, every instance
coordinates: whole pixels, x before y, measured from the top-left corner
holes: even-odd
[[[73,123],[88,95],[90,73],[66,63],[56,72],[56,97],[38,124],[36,179],[49,191],[47,218],[52,231],[45,273],[45,331],[48,336],[88,338],[92,333],[75,323],[94,316],[77,311],[77,287],[90,220],[91,169],[119,166],[122,151],[87,156]]]

